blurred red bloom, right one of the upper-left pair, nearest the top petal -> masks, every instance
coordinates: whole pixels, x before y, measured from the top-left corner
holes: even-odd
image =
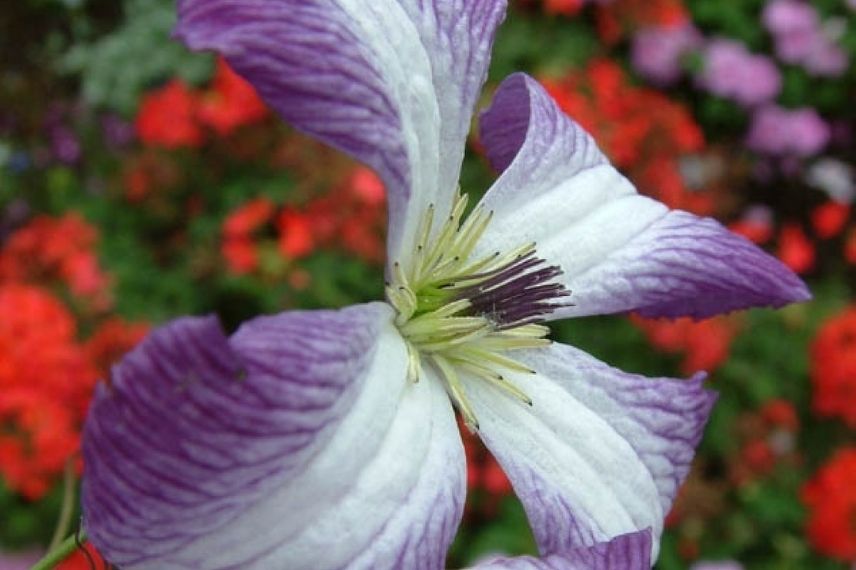
[[[218,59],[213,88],[199,104],[200,122],[225,137],[267,115],[268,109],[253,86],[232,71],[226,60]]]

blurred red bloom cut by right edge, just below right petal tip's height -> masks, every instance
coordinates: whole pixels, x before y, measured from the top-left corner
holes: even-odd
[[[812,407],[856,428],[856,305],[823,323],[811,344]]]

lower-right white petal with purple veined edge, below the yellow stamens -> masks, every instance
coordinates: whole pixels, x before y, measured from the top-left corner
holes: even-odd
[[[714,397],[702,377],[649,379],[573,347],[521,351],[532,407],[472,379],[479,433],[523,501],[542,554],[652,529],[686,476]]]

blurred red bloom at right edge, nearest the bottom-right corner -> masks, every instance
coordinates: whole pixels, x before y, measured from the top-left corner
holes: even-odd
[[[806,533],[818,551],[856,562],[856,448],[845,448],[803,487],[809,510]]]

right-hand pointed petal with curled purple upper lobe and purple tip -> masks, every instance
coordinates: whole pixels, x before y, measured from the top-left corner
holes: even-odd
[[[793,272],[718,222],[639,195],[526,75],[500,86],[481,139],[504,172],[485,195],[494,221],[476,253],[537,242],[539,256],[562,267],[574,303],[551,318],[703,318],[810,297]]]

